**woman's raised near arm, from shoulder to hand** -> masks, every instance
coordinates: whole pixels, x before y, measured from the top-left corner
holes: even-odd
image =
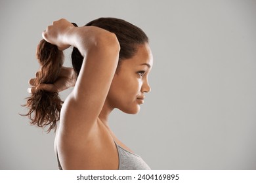
[[[93,26],[74,27],[67,20],[53,22],[43,32],[46,41],[60,50],[70,45],[84,56],[74,90],[62,106],[60,127],[65,138],[87,135],[104,105],[119,58],[116,35]]]

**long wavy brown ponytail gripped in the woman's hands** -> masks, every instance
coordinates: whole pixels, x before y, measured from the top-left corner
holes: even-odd
[[[58,78],[63,64],[62,51],[58,50],[57,46],[41,40],[37,46],[36,56],[41,65],[41,71],[35,81],[35,88],[39,84],[53,84]],[[47,132],[50,132],[51,129],[55,131],[56,122],[60,120],[60,109],[63,103],[58,93],[36,90],[27,99],[25,106],[29,108],[29,111],[22,116],[28,116],[32,125],[43,128],[49,125]]]

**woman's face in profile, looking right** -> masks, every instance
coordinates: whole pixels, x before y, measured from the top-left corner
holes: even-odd
[[[150,46],[141,44],[133,58],[124,59],[115,74],[107,101],[112,108],[136,114],[144,103],[144,93],[150,92],[148,74],[153,66]]]

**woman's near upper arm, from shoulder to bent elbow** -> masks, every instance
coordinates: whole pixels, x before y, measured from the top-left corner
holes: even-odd
[[[93,126],[116,72],[119,58],[116,35],[103,33],[91,45],[84,54],[74,90],[62,107],[60,120],[70,132],[89,130]]]

